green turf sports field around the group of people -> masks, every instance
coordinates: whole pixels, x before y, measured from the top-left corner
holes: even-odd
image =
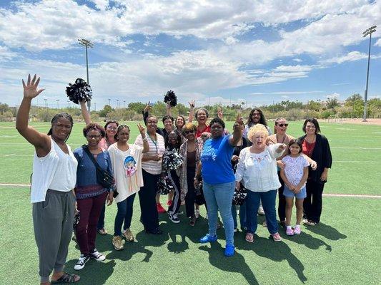
[[[41,132],[49,130],[48,123],[33,125]],[[129,125],[133,142],[137,127]],[[83,126],[74,125],[68,141],[72,149],[85,143]],[[269,239],[262,225],[253,244],[244,242],[244,234],[238,232],[236,254],[226,258],[223,229],[217,232],[217,243],[198,243],[207,232],[204,207],[195,227],[189,227],[184,216],[180,224],[173,224],[167,214],[160,215],[164,234],[158,237],[144,233],[137,198],[132,221],[136,241],[115,252],[111,239],[117,207],[112,204],[106,212],[109,234],[97,237],[97,249],[107,259],[87,262],[76,272],[79,284],[380,284],[381,126],[322,123],[320,127],[330,141],[333,165],[322,222],[316,227],[302,227],[299,237],[287,237],[281,228],[279,243]],[[291,122],[287,133],[299,137],[301,129],[302,122]],[[0,183],[28,184],[32,154],[33,147],[16,132],[14,123],[0,123]],[[29,187],[1,185],[0,191],[0,284],[38,284]],[[263,220],[259,217],[260,224]],[[74,272],[78,257],[71,242],[66,271]]]

